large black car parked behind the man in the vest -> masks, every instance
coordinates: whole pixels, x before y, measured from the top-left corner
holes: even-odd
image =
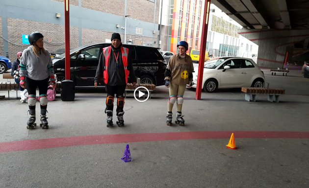
[[[94,86],[99,57],[110,43],[91,44],[70,50],[71,79],[75,86]],[[156,47],[123,44],[129,48],[133,69],[141,83],[164,85],[166,61]],[[65,53],[52,60],[57,81],[65,79]],[[104,83],[100,83],[104,85]]]

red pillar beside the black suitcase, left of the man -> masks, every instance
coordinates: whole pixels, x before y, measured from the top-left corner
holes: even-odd
[[[70,80],[70,3],[64,0],[65,79]]]

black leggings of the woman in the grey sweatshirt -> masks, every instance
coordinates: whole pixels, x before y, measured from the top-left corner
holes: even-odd
[[[49,85],[49,80],[50,80],[49,77],[44,80],[33,80],[31,78],[26,77],[26,88],[28,90],[28,96],[36,95],[37,87],[39,88],[39,95],[45,94],[46,96],[48,85]],[[45,115],[47,105],[46,106],[40,105],[40,107],[41,107],[41,114]],[[29,111],[31,115],[35,114],[35,106],[29,106]]]

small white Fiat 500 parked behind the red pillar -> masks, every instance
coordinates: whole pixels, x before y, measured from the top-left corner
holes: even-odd
[[[198,66],[194,66],[192,88],[196,88]],[[215,92],[218,88],[263,87],[264,73],[256,63],[243,57],[220,57],[204,64],[202,89]]]

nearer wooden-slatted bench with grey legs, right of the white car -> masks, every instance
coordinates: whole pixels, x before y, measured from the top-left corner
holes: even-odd
[[[270,102],[279,102],[279,96],[285,93],[283,89],[276,88],[241,88],[241,92],[245,93],[245,100],[256,101],[257,94],[268,94],[267,100]]]

